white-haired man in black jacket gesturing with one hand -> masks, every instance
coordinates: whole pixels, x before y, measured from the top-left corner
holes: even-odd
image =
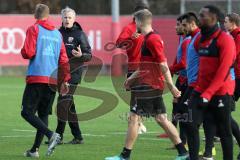
[[[73,94],[77,85],[81,82],[83,63],[91,60],[91,47],[88,43],[86,34],[81,26],[75,22],[76,13],[71,8],[65,8],[62,14],[62,27],[59,29],[63,36],[63,41],[69,58],[71,79],[69,81],[69,93],[65,96],[59,95],[57,104],[58,124],[56,132],[61,135],[68,121],[74,136],[70,144],[82,144],[83,138],[78,124]]]

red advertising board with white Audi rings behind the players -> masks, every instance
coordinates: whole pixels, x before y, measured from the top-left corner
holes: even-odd
[[[27,27],[35,22],[32,15],[0,15],[0,66],[27,65],[28,61],[20,55]],[[54,25],[59,28],[61,17],[50,17]],[[112,44],[113,29],[111,16],[78,16],[77,21],[81,24],[88,35],[93,55],[100,58],[104,64],[111,64],[112,51],[105,50],[107,44]],[[120,18],[121,29],[132,21],[131,16]],[[169,62],[172,62],[176,53],[178,39],[175,34],[174,18],[154,18],[154,29],[157,30],[165,43],[165,54]]]

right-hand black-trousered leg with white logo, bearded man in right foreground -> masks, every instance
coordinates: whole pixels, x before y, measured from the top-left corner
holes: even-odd
[[[231,103],[232,96],[214,97],[211,105],[214,106],[212,115],[215,118],[217,130],[221,139],[223,160],[233,160],[233,140],[231,130]]]

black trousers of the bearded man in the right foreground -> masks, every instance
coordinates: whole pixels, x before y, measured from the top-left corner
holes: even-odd
[[[233,160],[233,141],[231,130],[232,96],[214,96],[206,108],[199,106],[200,94],[193,91],[188,107],[192,119],[186,123],[186,133],[191,160],[198,160],[200,147],[199,126],[204,114],[210,114],[221,138],[223,160]]]

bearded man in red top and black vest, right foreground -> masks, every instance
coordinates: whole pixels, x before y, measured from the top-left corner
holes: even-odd
[[[210,114],[215,123],[223,149],[223,159],[233,160],[233,142],[230,126],[231,107],[235,87],[233,64],[235,44],[230,35],[222,31],[218,20],[222,15],[215,6],[200,10],[201,34],[194,47],[199,54],[198,79],[189,100],[192,121],[187,124],[187,137],[191,160],[198,160],[199,126],[204,114]],[[209,122],[210,123],[210,122]]]

